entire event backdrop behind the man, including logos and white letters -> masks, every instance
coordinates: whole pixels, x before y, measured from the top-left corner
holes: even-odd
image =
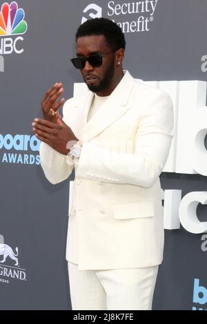
[[[45,179],[31,124],[52,84],[64,84],[66,99],[81,91],[70,58],[79,24],[95,17],[121,27],[124,69],[166,90],[175,108],[160,176],[165,250],[153,309],[207,308],[206,16],[205,0],[0,1],[0,310],[71,310],[65,254],[74,173],[58,185]]]

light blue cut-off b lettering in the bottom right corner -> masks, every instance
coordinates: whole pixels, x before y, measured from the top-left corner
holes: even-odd
[[[200,279],[194,279],[193,310],[207,310],[207,288]]]

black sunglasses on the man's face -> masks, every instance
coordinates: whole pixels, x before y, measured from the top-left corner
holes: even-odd
[[[113,50],[112,52],[108,52],[106,54],[93,54],[90,55],[90,57],[75,57],[75,59],[70,59],[70,61],[77,69],[83,69],[86,65],[86,61],[88,61],[93,68],[98,68],[103,63],[103,57],[115,51],[116,50]]]

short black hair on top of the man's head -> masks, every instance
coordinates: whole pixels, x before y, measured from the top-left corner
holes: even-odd
[[[126,48],[124,33],[117,23],[110,19],[95,18],[85,21],[79,26],[75,38],[77,41],[79,37],[91,35],[105,36],[106,42],[112,50],[118,50],[119,48],[124,48],[125,50]]]

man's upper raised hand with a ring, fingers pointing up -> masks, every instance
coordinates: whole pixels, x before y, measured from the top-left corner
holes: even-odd
[[[48,91],[46,92],[46,95],[41,101],[41,110],[43,113],[43,119],[46,119],[47,121],[52,121],[52,123],[59,123],[61,116],[58,112],[59,108],[63,103],[65,103],[66,99],[61,99],[61,101],[58,101],[59,97],[63,94],[63,84],[62,83],[55,83]],[[54,110],[56,114],[54,116],[51,116],[49,114],[50,109]]]

